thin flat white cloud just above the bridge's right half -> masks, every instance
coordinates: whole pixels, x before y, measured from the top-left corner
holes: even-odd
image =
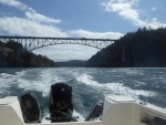
[[[79,38],[96,38],[96,39],[120,39],[123,35],[120,32],[91,32],[86,30],[70,31],[69,34]]]

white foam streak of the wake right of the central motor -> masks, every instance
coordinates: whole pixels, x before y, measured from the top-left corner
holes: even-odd
[[[107,92],[113,92],[115,94],[123,94],[126,96],[132,96],[134,98],[138,98],[139,95],[144,96],[154,96],[155,93],[151,91],[144,91],[144,90],[132,90],[127,86],[124,86],[123,83],[98,83],[97,81],[94,80],[93,76],[89,74],[83,74],[76,77],[79,83],[90,85],[92,87],[95,87],[97,91],[100,90],[103,93]]]

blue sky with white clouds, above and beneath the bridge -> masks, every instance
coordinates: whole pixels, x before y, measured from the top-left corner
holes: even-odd
[[[0,35],[118,39],[166,27],[166,0],[0,0]],[[54,61],[86,60],[98,50],[53,45],[33,51]]]

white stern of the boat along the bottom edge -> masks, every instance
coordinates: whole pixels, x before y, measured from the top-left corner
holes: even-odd
[[[23,121],[17,96],[0,98],[0,125],[166,125],[166,110],[120,95],[105,95],[101,121],[32,123]]]

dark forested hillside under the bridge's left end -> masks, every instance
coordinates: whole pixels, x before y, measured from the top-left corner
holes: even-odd
[[[25,51],[21,43],[0,41],[0,67],[54,67],[55,62],[46,56]]]

